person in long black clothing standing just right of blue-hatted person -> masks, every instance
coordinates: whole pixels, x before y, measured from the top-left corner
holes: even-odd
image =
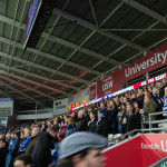
[[[118,120],[117,120],[117,116],[118,116],[118,107],[116,106],[116,102],[110,100],[110,111],[109,111],[109,116],[108,116],[108,120],[109,120],[109,126],[111,129],[111,134],[117,134],[118,130]]]

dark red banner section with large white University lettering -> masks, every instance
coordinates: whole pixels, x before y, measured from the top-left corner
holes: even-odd
[[[129,81],[167,65],[167,45],[116,71],[121,81]]]

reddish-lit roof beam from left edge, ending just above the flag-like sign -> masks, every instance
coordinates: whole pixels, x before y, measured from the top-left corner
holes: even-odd
[[[53,99],[53,97],[51,97],[51,96],[49,96],[49,95],[46,95],[45,92],[41,92],[41,91],[39,91],[39,90],[36,90],[36,89],[33,89],[33,88],[31,88],[31,87],[29,87],[29,86],[26,86],[26,85],[23,85],[23,84],[21,84],[21,82],[19,82],[19,81],[16,81],[16,80],[13,80],[13,79],[10,79],[9,77],[4,77],[4,76],[2,76],[2,75],[0,75],[0,77],[1,77],[2,79],[4,79],[4,80],[11,81],[11,82],[13,82],[13,84],[20,86],[20,87],[23,87],[23,88],[26,88],[26,89],[29,89],[29,90],[31,90],[31,91],[33,91],[33,92],[36,92],[36,94],[39,94],[39,95],[41,95],[41,96],[48,97],[48,98],[50,98],[50,99]]]

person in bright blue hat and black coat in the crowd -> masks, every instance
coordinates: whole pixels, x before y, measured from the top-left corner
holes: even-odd
[[[109,124],[105,117],[105,110],[104,109],[98,110],[98,120],[96,122],[95,132],[98,135],[106,136],[106,137],[109,134]]]

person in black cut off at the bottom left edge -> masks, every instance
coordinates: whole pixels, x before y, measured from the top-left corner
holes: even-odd
[[[6,136],[0,135],[0,167],[4,167],[8,155],[8,147],[6,144]]]

